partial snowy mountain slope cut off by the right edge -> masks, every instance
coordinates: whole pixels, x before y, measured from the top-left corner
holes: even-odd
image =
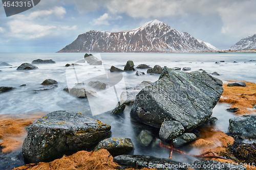
[[[256,49],[256,34],[242,38],[230,47],[230,50],[252,50]]]

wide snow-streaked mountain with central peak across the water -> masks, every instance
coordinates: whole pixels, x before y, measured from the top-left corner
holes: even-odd
[[[216,49],[155,19],[129,31],[80,34],[59,52],[199,52]]]

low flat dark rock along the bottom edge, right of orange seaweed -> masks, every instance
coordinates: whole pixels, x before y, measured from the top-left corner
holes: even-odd
[[[126,167],[133,168],[156,168],[156,169],[176,169],[176,170],[186,170],[187,166],[182,166],[182,163],[175,162],[169,159],[156,158],[154,156],[148,155],[119,155],[114,157],[114,162],[121,165],[121,169]],[[168,166],[165,166],[165,165]],[[173,168],[177,167],[177,168]]]

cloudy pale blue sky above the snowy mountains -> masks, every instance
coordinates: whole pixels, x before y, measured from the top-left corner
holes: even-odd
[[[119,32],[158,19],[220,50],[256,34],[255,0],[41,0],[6,17],[0,52],[54,53],[90,30]]]

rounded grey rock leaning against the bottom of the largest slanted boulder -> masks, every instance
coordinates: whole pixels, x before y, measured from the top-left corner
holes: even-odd
[[[162,123],[159,131],[159,137],[161,140],[168,142],[182,135],[184,132],[185,129],[181,123],[174,120],[168,120]]]

